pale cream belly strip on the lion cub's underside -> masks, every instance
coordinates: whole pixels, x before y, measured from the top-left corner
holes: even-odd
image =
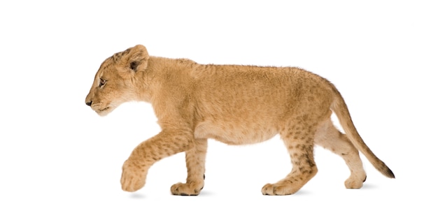
[[[201,122],[196,126],[195,138],[213,138],[228,145],[247,145],[268,140],[276,133],[276,129],[266,125]]]

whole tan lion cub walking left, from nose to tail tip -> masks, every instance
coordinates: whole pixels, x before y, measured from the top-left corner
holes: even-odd
[[[106,115],[127,101],[152,103],[162,131],[137,146],[123,164],[125,191],[141,189],[156,161],[185,152],[187,180],[171,186],[171,193],[198,195],[208,138],[243,145],[278,133],[293,168],[279,182],[263,186],[265,195],[295,193],[316,175],[315,144],[346,161],[351,170],[346,188],[358,189],[366,178],[358,150],[383,175],[394,177],[360,138],[337,89],[299,68],[202,65],[150,57],[146,47],[136,45],[101,64],[85,102]],[[334,128],[332,111],[346,134]]]

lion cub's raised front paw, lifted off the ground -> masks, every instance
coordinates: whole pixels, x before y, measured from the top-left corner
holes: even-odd
[[[120,183],[122,184],[122,189],[124,191],[137,191],[141,189],[146,184],[146,174],[148,170],[142,168],[132,161],[125,161],[122,168],[122,178]]]

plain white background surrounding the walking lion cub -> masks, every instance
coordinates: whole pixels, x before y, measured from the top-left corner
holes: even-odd
[[[437,219],[437,10],[434,1],[2,1],[0,219]],[[146,103],[99,117],[85,96],[101,61],[136,44],[153,56],[322,75],[396,179],[362,157],[365,186],[344,189],[344,161],[317,147],[319,173],[301,191],[262,196],[290,170],[277,136],[245,147],[211,140],[200,196],[170,195],[185,180],[183,154],[155,163],[140,191],[122,191],[122,163],[160,131],[156,118]]]

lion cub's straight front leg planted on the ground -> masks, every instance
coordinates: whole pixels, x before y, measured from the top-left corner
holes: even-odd
[[[185,183],[177,183],[171,186],[171,193],[177,196],[197,196],[204,188],[205,157],[207,152],[207,140],[195,140],[195,146],[185,151],[185,163],[187,166],[187,180]]]

